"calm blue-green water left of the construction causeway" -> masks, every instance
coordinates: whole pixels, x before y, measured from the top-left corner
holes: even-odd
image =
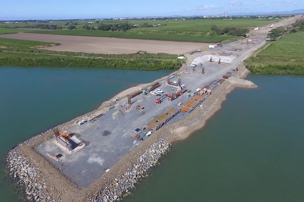
[[[34,134],[96,109],[103,101],[171,71],[0,67],[0,201],[20,201],[4,173],[7,152]]]

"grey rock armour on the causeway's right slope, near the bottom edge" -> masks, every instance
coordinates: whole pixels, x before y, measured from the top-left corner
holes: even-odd
[[[112,202],[119,201],[122,197],[130,194],[140,178],[147,177],[148,170],[156,166],[159,159],[171,148],[171,144],[160,139],[152,144],[139,158],[137,162],[119,179],[114,179],[104,189],[100,190],[95,198],[88,198],[90,202]]]

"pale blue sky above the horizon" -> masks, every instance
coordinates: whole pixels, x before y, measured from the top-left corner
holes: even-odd
[[[304,9],[304,0],[2,0],[0,20],[216,15]]]

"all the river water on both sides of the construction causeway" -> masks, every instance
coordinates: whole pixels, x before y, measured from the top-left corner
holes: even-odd
[[[0,154],[168,71],[0,68]],[[250,75],[206,127],[182,142],[126,202],[303,201],[304,77]],[[0,201],[20,201],[1,167]]]

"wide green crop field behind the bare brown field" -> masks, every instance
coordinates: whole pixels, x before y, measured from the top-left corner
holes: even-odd
[[[61,34],[61,35],[79,35],[79,36],[101,36],[101,37],[118,37],[118,38],[135,38],[135,39],[154,39],[164,41],[179,41],[179,42],[201,42],[201,43],[217,43],[217,42],[231,42],[239,39],[240,37],[220,35],[220,36],[209,36],[211,25],[217,25],[220,28],[224,27],[256,27],[265,24],[270,24],[277,21],[277,19],[200,19],[200,20],[134,20],[128,21],[128,23],[140,24],[147,23],[162,24],[161,27],[140,27],[134,28],[127,31],[101,31],[101,30],[85,30],[83,25],[89,21],[74,21],[77,25],[74,25],[76,29],[69,30],[68,26],[64,24],[66,21],[58,23],[48,23],[49,25],[57,25],[66,27],[62,30],[17,30],[20,32],[31,32],[31,33],[46,33],[46,34]],[[99,21],[99,23],[122,23],[126,21]],[[98,27],[99,23],[94,23],[90,26]],[[17,23],[17,24],[0,24],[0,33],[4,32],[4,27],[13,28],[14,26],[27,26],[34,25],[34,23]],[[16,30],[14,30],[16,31]]]

